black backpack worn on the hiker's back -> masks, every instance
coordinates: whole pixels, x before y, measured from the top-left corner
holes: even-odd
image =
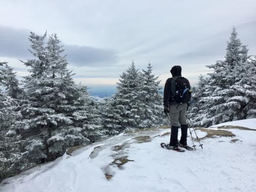
[[[189,81],[184,77],[177,77],[175,80],[175,93],[172,92],[173,98],[177,103],[187,103],[191,99],[191,90]]]

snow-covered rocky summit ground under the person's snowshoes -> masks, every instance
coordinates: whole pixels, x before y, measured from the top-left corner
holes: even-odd
[[[121,134],[7,179],[0,191],[256,191],[256,131],[243,127],[256,129],[256,119],[197,130],[204,149],[184,153],[160,147],[164,127]]]

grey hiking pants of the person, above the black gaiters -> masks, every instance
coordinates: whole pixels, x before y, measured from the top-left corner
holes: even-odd
[[[187,124],[186,118],[187,103],[174,103],[169,106],[170,124],[179,126],[180,124]]]

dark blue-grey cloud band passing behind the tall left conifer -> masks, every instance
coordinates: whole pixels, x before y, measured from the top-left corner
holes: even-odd
[[[29,30],[0,26],[0,57],[32,58],[28,51],[30,48],[29,34]],[[63,46],[68,61],[77,67],[99,67],[106,64],[112,66],[118,60],[117,52],[114,50],[67,44],[63,44]]]

